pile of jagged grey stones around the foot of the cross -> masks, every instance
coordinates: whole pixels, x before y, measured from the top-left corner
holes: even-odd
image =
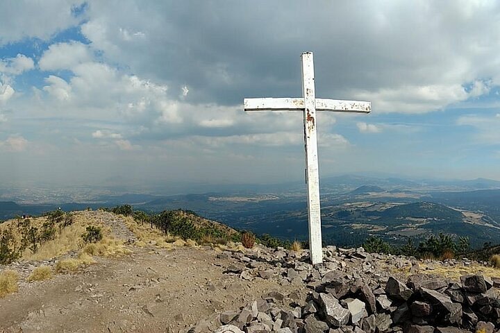
[[[328,247],[324,254],[325,263],[313,267],[307,254],[283,249],[222,253],[242,264],[228,267],[228,274],[303,283],[309,292],[269,293],[238,311],[226,311],[215,332],[500,332],[499,280],[464,275],[453,282],[416,273],[403,283],[388,270],[374,270],[380,260],[363,248]],[[418,271],[409,259],[384,258]]]

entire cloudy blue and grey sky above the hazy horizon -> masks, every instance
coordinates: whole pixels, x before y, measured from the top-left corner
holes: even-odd
[[[0,183],[258,183],[320,173],[500,180],[499,1],[1,1]]]

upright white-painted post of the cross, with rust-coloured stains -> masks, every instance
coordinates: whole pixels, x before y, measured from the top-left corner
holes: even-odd
[[[323,260],[321,234],[321,205],[319,203],[319,171],[316,130],[316,96],[313,53],[301,55],[304,149],[306,151],[306,183],[308,194],[308,223],[310,259],[314,264]]]

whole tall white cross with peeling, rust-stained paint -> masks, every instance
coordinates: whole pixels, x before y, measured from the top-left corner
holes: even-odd
[[[245,111],[303,111],[304,142],[306,148],[306,182],[308,185],[309,249],[313,264],[323,262],[321,210],[319,205],[319,172],[317,157],[316,110],[369,113],[372,103],[316,99],[313,53],[304,52],[302,60],[302,96],[293,99],[244,99]]]

